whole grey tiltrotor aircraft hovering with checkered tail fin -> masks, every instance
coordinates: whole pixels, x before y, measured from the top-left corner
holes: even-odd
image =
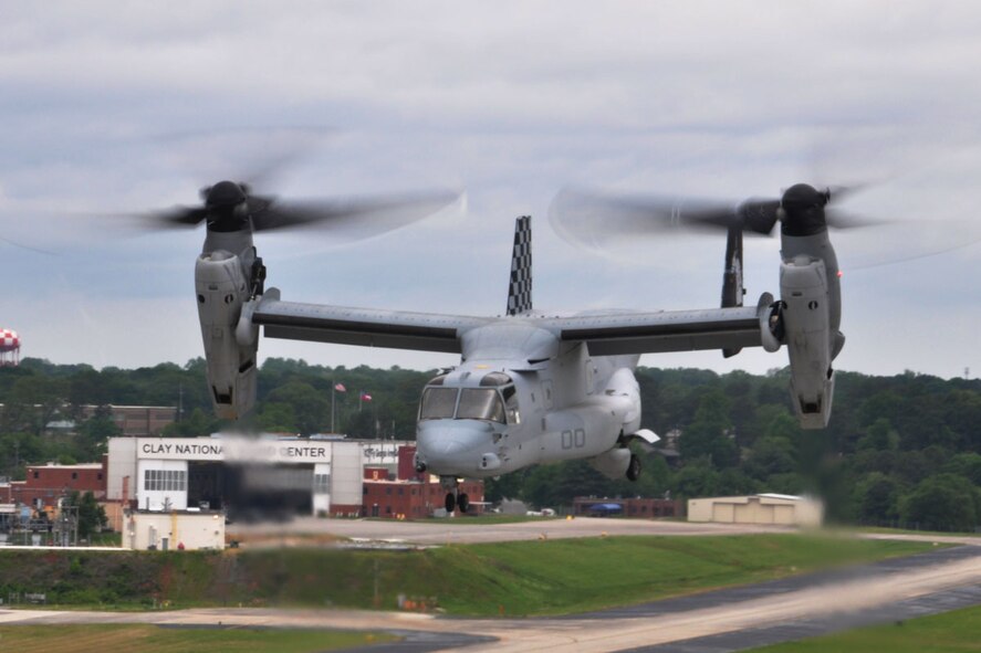
[[[824,210],[829,191],[799,185],[780,199],[697,211],[657,202],[633,206],[632,219],[643,218],[634,220],[635,227],[689,221],[728,231],[722,306],[570,317],[532,308],[528,217],[516,221],[507,315],[436,315],[286,302],[278,288],[264,287],[253,231],[358,219],[363,211],[357,207],[311,212],[253,197],[248,187],[230,181],[202,196],[203,207],[165,218],[207,223],[195,284],[217,414],[233,420],[253,408],[260,327],[270,338],[459,354],[460,364],[422,390],[416,435],[416,467],[439,475],[448,512],[468,508],[467,495],[458,489],[461,477],[499,476],[539,463],[586,459],[610,477],[636,480],[640,464],[628,444],[658,440],[640,424],[634,370],[641,354],[721,349],[731,356],[743,347],[775,351],[786,345],[801,425],[827,424],[832,360],[844,344],[838,267],[827,235],[832,213],[826,218]],[[563,198],[553,204],[553,224],[582,240],[576,208],[589,201],[595,206],[595,198]],[[437,207],[422,201],[413,208],[428,213]],[[778,221],[780,299],[764,293],[755,306],[743,306],[743,231],[769,233]]]

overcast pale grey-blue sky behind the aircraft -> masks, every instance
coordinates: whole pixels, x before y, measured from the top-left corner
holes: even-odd
[[[0,236],[53,252],[0,243],[0,326],[55,362],[200,356],[203,232],[85,214],[191,204],[222,178],[298,198],[466,188],[466,211],[367,242],[257,244],[284,299],[476,315],[504,309],[524,213],[538,308],[717,304],[724,236],[577,251],[547,222],[566,185],[738,200],[873,182],[847,208],[900,222],[834,235],[838,369],[977,377],[981,245],[868,266],[981,239],[979,61],[972,2],[0,0]],[[745,264],[748,301],[779,292],[779,239]],[[272,339],[260,355],[455,362]],[[786,354],[643,364],[762,372]]]

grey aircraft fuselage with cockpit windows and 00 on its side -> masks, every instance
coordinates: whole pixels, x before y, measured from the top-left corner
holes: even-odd
[[[574,459],[602,459],[640,425],[637,356],[591,357],[505,318],[477,329],[479,347],[424,390],[417,466],[440,476],[488,477]],[[540,358],[528,357],[535,341]],[[524,347],[515,359],[509,344]],[[622,474],[626,457],[616,472]]]

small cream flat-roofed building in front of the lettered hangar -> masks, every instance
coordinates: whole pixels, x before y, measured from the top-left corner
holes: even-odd
[[[131,513],[123,545],[132,549],[223,549],[225,517],[218,513]]]

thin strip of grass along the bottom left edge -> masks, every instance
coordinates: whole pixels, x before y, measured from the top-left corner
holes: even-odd
[[[384,633],[348,631],[182,629],[146,624],[0,626],[0,651],[44,653],[315,653],[396,639]]]

